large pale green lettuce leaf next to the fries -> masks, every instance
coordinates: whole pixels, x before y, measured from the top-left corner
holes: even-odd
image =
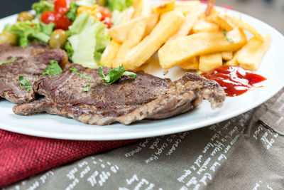
[[[87,68],[99,68],[99,60],[110,41],[107,26],[83,12],[70,26],[70,32],[75,33],[68,38],[74,51],[73,62]]]

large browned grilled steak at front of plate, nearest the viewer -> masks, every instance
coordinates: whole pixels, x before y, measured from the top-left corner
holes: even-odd
[[[203,99],[212,107],[220,107],[225,100],[224,90],[213,80],[193,73],[185,74],[175,82],[157,78],[143,72],[133,79],[123,76],[116,83],[107,85],[97,69],[80,73],[93,78],[89,92],[83,92],[89,80],[71,70],[44,78],[35,85],[36,92],[45,96],[13,107],[18,115],[48,112],[51,115],[72,117],[87,124],[109,125],[113,122],[130,124],[143,119],[162,119],[192,110]],[[104,68],[104,73],[109,72]]]

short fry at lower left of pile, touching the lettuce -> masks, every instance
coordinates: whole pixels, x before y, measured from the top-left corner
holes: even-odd
[[[101,65],[104,67],[111,68],[112,67],[112,62],[116,58],[117,52],[119,51],[120,43],[112,40],[107,48],[104,50],[104,53],[102,53],[102,58],[101,58]]]

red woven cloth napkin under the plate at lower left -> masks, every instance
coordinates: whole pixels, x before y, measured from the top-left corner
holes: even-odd
[[[91,154],[136,142],[72,141],[0,130],[0,187]]]

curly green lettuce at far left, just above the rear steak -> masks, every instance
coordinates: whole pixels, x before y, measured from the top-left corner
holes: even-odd
[[[53,23],[45,25],[39,21],[22,21],[14,25],[7,24],[4,31],[11,32],[18,36],[18,45],[21,47],[28,46],[30,41],[43,41],[48,43],[54,27]]]

